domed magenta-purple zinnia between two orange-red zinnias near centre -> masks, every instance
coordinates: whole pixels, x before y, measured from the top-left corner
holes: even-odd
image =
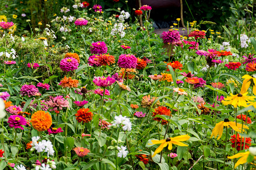
[[[137,58],[133,54],[121,54],[117,64],[124,69],[135,69],[138,65]]]

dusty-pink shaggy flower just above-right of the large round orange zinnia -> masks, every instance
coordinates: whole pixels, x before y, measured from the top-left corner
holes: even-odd
[[[49,105],[49,111],[59,111],[62,110],[63,108],[69,107],[68,100],[64,99],[63,96],[56,96],[56,97],[50,97],[50,100],[47,102]]]

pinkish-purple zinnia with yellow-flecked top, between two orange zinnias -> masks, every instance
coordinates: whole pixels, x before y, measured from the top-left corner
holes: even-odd
[[[60,61],[60,69],[62,71],[76,70],[79,66],[77,59],[72,57],[63,58]]]

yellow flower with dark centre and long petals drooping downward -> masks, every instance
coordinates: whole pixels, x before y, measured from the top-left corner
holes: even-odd
[[[212,138],[214,136],[214,138],[217,138],[220,139],[221,136],[222,136],[222,133],[223,133],[223,128],[224,126],[227,126],[229,128],[229,126],[235,130],[235,131],[238,131],[238,132],[242,132],[241,129],[242,129],[242,125],[241,124],[238,124],[236,125],[236,122],[231,122],[229,121],[228,118],[225,118],[224,121],[220,121],[216,124],[216,126],[213,128],[212,130],[212,135],[210,135],[210,138]],[[243,130],[244,129],[249,129],[247,126],[243,125]]]

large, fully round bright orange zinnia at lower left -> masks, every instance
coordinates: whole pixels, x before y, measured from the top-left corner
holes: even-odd
[[[32,114],[30,122],[34,129],[44,131],[51,127],[52,117],[48,112],[38,111]]]

